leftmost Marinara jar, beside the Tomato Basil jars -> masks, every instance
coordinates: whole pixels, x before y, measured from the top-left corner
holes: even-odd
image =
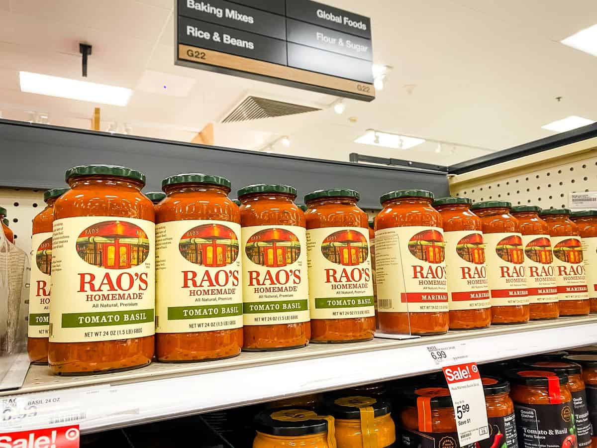
[[[448,331],[444,230],[433,193],[398,190],[380,198],[375,220],[377,306],[384,333]]]

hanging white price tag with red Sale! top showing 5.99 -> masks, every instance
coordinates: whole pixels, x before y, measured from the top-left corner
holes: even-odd
[[[460,446],[489,438],[485,394],[476,363],[443,367],[450,388]]]

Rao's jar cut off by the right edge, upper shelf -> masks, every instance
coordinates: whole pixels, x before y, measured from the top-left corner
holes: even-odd
[[[597,210],[575,211],[570,219],[578,226],[582,238],[590,311],[597,312]]]

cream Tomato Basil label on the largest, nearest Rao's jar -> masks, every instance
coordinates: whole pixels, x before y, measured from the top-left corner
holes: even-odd
[[[53,230],[50,342],[152,336],[155,224],[82,216]]]

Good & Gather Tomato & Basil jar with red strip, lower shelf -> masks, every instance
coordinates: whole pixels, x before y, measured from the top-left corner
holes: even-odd
[[[512,387],[519,448],[576,448],[568,376],[531,368],[509,370],[506,376]]]

